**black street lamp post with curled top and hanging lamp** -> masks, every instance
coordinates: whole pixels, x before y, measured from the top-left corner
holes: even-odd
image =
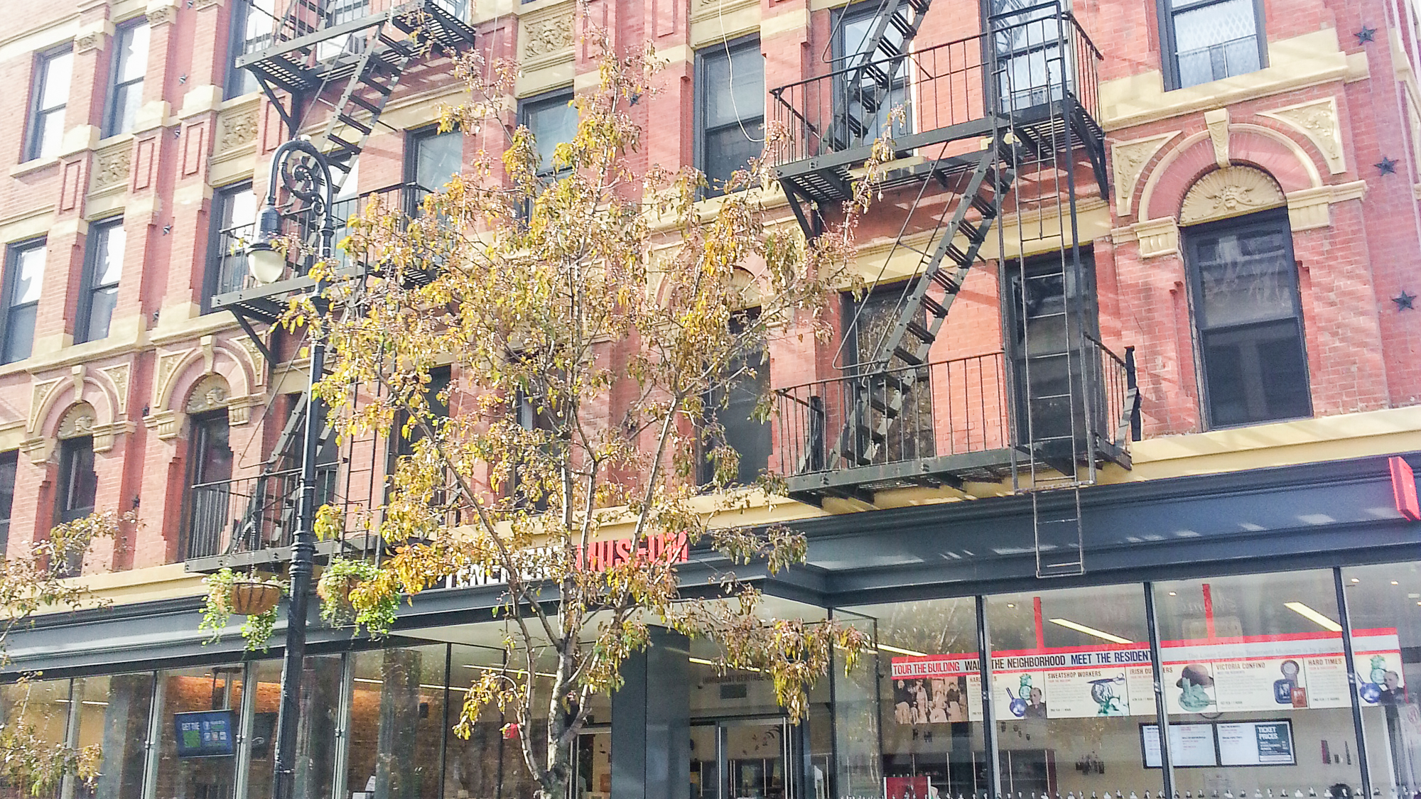
[[[331,216],[334,186],[325,156],[307,139],[293,139],[276,149],[266,203],[257,213],[256,240],[247,247],[252,276],[259,283],[274,283],[286,272],[286,256],[273,245],[281,236],[281,215],[276,208],[277,182],[307,208],[321,223],[321,260],[330,260],[335,220]],[[315,314],[327,311],[324,281],[315,286]],[[315,456],[321,436],[320,400],[315,384],[325,368],[325,341],[317,328],[311,337],[311,375],[306,390],[306,438],[301,442],[301,499],[291,546],[291,603],[286,621],[286,653],[281,661],[281,712],[277,717],[276,769],[273,799],[294,796],[297,729],[301,712],[301,672],[306,660],[307,597],[315,560]]]

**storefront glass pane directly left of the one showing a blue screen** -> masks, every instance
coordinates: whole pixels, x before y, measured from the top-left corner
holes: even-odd
[[[99,746],[102,754],[94,793],[142,796],[152,672],[81,677],[72,699],[78,702],[78,745]]]

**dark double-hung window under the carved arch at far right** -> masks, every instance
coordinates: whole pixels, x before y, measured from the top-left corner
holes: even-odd
[[[1287,210],[1188,227],[1185,243],[1209,427],[1312,415]]]

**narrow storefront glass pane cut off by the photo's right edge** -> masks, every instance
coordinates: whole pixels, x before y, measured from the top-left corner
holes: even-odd
[[[1343,569],[1371,788],[1421,790],[1421,564]]]

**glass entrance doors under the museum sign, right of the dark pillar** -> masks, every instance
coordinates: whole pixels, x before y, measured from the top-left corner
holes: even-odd
[[[691,799],[789,799],[794,735],[784,718],[692,722]]]

